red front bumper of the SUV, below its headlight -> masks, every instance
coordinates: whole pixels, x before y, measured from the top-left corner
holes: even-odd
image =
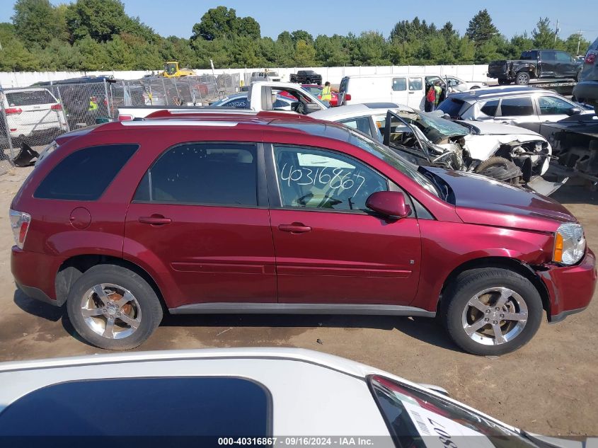
[[[596,289],[596,255],[588,248],[585,257],[575,266],[554,266],[538,271],[548,296],[548,321],[560,322],[569,314],[583,311],[592,300]]]

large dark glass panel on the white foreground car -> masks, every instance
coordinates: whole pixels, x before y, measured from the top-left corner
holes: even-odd
[[[110,398],[93,399],[96,391],[110,391]],[[49,415],[60,418],[48,418]],[[108,415],[113,418],[106,420]],[[129,437],[132,447],[188,447],[192,445],[184,440],[178,445],[176,437],[260,437],[271,433],[270,391],[251,379],[239,377],[69,381],[30,392],[0,414],[0,438],[30,437],[30,443],[14,445],[21,447],[60,443],[45,440],[42,444],[33,436],[87,437],[81,440],[84,443],[69,440],[60,445],[64,447],[84,447],[89,442],[97,447],[100,443],[91,437],[101,436]],[[149,439],[155,436],[169,438],[161,442]],[[195,446],[217,446],[210,442],[211,439],[197,440]]]

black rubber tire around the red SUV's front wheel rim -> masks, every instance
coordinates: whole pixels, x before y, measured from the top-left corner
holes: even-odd
[[[466,323],[468,325],[473,326],[476,321],[474,320],[473,323],[468,323],[465,319],[469,318],[469,314],[471,310],[477,311],[474,309],[473,306],[469,304],[478,294],[484,292],[488,289],[498,289],[504,288],[507,293],[510,294],[508,291],[513,292],[514,294],[510,296],[506,304],[503,305],[503,308],[500,311],[494,312],[493,306],[489,306],[488,308],[491,310],[490,314],[488,311],[482,312],[478,311],[481,316],[488,316],[490,318],[489,323],[484,323],[484,326],[480,328],[478,331],[473,331],[474,337],[478,339],[483,339],[488,342],[488,340],[494,340],[494,342],[490,342],[493,345],[485,345],[481,343],[479,340],[474,340],[474,338],[466,333],[464,326]],[[515,297],[516,294],[519,297]],[[499,292],[490,292],[488,294],[480,294],[481,297],[479,300],[482,301],[483,297],[489,297],[488,300],[494,300],[492,297],[500,297]],[[519,299],[523,302],[520,304]],[[542,308],[542,299],[540,298],[540,294],[536,287],[531,284],[527,278],[519,275],[517,272],[513,272],[512,270],[502,269],[502,268],[487,268],[487,269],[476,269],[471,271],[466,271],[461,273],[454,282],[447,288],[447,291],[444,294],[442,299],[442,316],[444,317],[444,326],[447,328],[447,332],[449,333],[449,337],[459,345],[459,347],[466,352],[469,352],[473,355],[504,355],[505,353],[513,352],[519,348],[522,348],[523,345],[527,344],[531,338],[534,337],[536,331],[540,326],[542,316],[543,316],[543,308]],[[490,304],[492,305],[492,304]],[[514,309],[515,311],[505,311],[505,306],[507,308]],[[498,314],[498,313],[511,313],[511,314],[520,314],[525,315],[525,308],[527,308],[527,319],[525,321],[502,321],[500,320],[500,316],[505,316],[505,314]],[[519,311],[517,311],[517,309]],[[467,316],[467,317],[466,317]],[[481,318],[485,321],[488,321],[488,318]],[[497,318],[498,321],[494,321],[498,323],[498,326],[505,326],[505,331],[507,331],[507,335],[509,334],[510,326],[518,326],[517,328],[512,327],[510,331],[513,331],[512,338],[507,339],[506,342],[502,343],[495,343],[495,337],[493,336],[493,328],[492,320],[493,318]],[[514,323],[515,322],[515,323]],[[523,322],[523,323],[522,323]],[[490,326],[490,328],[488,328]],[[487,334],[480,335],[478,332],[489,332],[490,339],[487,338]]]

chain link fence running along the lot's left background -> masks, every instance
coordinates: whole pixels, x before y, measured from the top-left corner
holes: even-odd
[[[121,106],[209,105],[238,91],[239,79],[239,74],[98,77],[2,89],[0,174],[11,168],[24,144],[39,152],[59,134],[115,120]]]

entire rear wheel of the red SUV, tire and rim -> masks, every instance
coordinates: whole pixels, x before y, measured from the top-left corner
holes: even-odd
[[[67,311],[82,338],[108,350],[137,347],[162,319],[154,289],[117,265],[98,265],[84,272],[71,287]]]

